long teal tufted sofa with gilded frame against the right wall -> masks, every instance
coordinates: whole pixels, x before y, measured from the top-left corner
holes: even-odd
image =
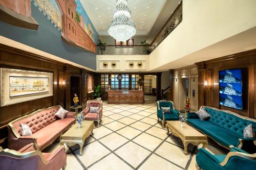
[[[206,120],[201,120],[196,113],[188,113],[187,123],[189,125],[214,139],[227,149],[229,149],[229,145],[233,145],[248,153],[256,153],[256,146],[253,143],[256,138],[243,137],[244,128],[250,124],[252,124],[254,132],[256,132],[255,119],[226,110],[208,106],[202,107],[204,107],[211,117]]]

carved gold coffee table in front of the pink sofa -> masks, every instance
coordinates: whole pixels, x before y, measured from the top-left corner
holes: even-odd
[[[80,155],[82,155],[83,143],[91,135],[93,135],[94,123],[93,121],[84,120],[81,128],[78,128],[78,124],[74,124],[68,131],[61,135],[60,144],[68,144],[70,147],[79,144]]]

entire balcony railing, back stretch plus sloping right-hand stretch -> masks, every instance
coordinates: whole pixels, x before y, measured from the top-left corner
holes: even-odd
[[[98,45],[99,55],[148,55],[181,23],[182,2],[150,45]]]

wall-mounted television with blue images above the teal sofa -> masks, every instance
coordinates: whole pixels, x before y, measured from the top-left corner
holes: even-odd
[[[220,105],[243,110],[242,69],[219,71]]]

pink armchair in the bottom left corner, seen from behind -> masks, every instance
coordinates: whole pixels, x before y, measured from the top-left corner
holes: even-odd
[[[65,169],[66,162],[67,154],[64,147],[58,147],[53,153],[34,151],[33,143],[26,145],[19,151],[0,147],[0,169]]]

